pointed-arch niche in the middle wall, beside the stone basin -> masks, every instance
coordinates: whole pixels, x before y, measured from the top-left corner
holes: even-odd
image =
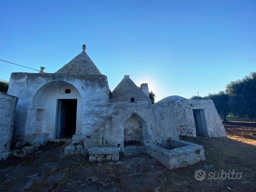
[[[144,120],[142,120],[136,113],[133,113],[124,122],[124,155],[135,155],[146,151],[143,135],[145,125]]]

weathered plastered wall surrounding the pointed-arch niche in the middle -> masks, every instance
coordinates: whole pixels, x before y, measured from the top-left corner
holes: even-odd
[[[100,113],[98,113],[100,111]],[[128,102],[110,102],[101,106],[93,115],[98,117],[91,129],[82,133],[85,148],[92,146],[117,146],[124,150],[124,129],[126,120],[135,115],[142,123],[143,143],[161,143],[164,139],[179,139],[175,127],[170,123],[170,117],[163,114],[149,102],[144,104]]]

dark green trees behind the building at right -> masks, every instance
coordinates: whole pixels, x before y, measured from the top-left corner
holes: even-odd
[[[190,99],[212,99],[223,121],[226,116],[256,117],[256,72],[242,80],[231,81],[225,91],[209,93],[205,97],[192,96]]]

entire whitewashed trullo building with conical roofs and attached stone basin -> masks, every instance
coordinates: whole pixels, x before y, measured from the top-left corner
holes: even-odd
[[[212,100],[170,96],[151,104],[147,83],[138,88],[129,75],[111,92],[85,49],[56,73],[12,73],[8,94],[19,98],[13,141],[39,147],[70,137],[65,154],[90,153],[92,161],[145,147],[173,169],[205,158],[202,146],[179,135],[226,136]]]

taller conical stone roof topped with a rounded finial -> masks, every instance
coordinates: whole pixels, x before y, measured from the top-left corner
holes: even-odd
[[[83,51],[73,58],[66,65],[61,67],[56,73],[63,74],[95,74],[100,75],[99,69],[85,52],[86,46],[83,45]]]

